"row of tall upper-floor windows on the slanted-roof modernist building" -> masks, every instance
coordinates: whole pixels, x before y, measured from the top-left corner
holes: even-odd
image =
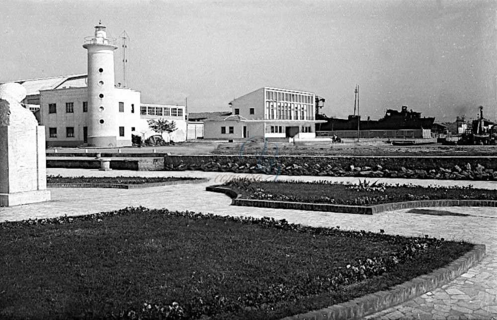
[[[266,101],[265,119],[314,120],[312,105]]]

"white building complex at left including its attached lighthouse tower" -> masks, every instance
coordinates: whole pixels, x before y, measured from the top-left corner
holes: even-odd
[[[143,137],[145,132],[145,138],[156,134],[148,129],[147,120],[157,118],[176,123],[173,141],[186,139],[184,106],[142,104],[139,91],[115,85],[116,46],[107,38],[104,26],[96,26],[94,36],[86,38],[83,47],[88,50],[87,74],[13,81],[26,88],[22,103],[45,126],[48,147],[130,146],[132,134]]]

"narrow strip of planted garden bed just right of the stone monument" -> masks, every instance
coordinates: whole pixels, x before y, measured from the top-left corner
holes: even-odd
[[[49,184],[116,184],[116,185],[140,185],[158,182],[170,181],[184,181],[184,180],[197,180],[198,178],[188,177],[61,177],[61,176],[47,176],[47,183]]]

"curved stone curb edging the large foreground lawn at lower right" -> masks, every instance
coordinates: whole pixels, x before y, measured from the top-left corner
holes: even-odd
[[[395,285],[388,291],[378,291],[345,303],[287,317],[283,320],[342,320],[365,317],[447,284],[478,264],[484,256],[485,245],[475,245],[474,249],[446,266]]]

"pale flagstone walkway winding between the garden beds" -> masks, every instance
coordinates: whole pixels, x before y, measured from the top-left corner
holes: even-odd
[[[0,221],[27,218],[79,215],[114,210],[126,206],[143,205],[149,208],[166,207],[170,210],[212,212],[220,215],[271,216],[293,223],[312,226],[340,226],[341,229],[363,229],[389,234],[420,236],[428,234],[437,238],[464,239],[487,246],[487,256],[476,267],[451,283],[390,308],[366,319],[493,319],[497,318],[497,210],[496,208],[448,207],[433,208],[470,216],[434,216],[409,213],[410,209],[384,212],[375,215],[314,212],[302,210],[252,208],[231,206],[231,199],[220,193],[206,192],[219,175],[232,173],[213,172],[137,172],[83,169],[48,169],[48,174],[62,176],[192,176],[211,179],[199,185],[165,186],[149,189],[93,189],[53,188],[52,201],[0,208]],[[219,179],[220,177],[218,177]],[[278,180],[331,180],[357,182],[357,178],[331,177],[278,177]],[[370,180],[370,179],[368,179]],[[373,179],[371,179],[373,180]],[[376,179],[375,179],[376,180]],[[378,179],[388,183],[405,183],[406,180]],[[469,185],[497,189],[495,182],[464,182],[409,180],[420,185]]]

